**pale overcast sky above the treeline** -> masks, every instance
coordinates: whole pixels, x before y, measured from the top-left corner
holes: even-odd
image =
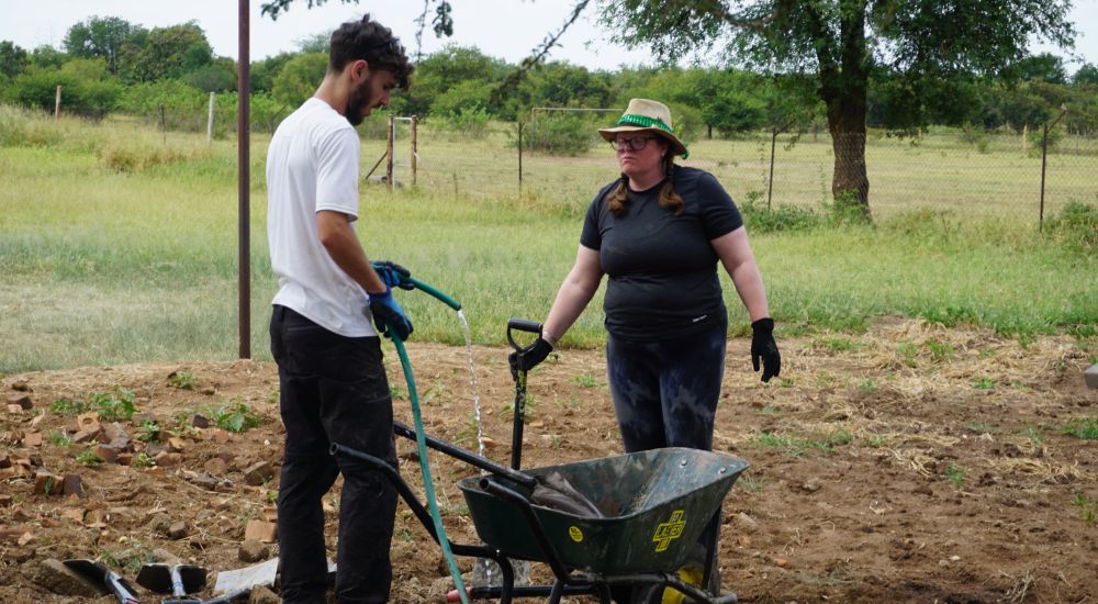
[[[414,19],[423,10],[423,2],[418,0],[360,0],[358,4],[328,0],[323,7],[313,9],[306,8],[305,0],[296,0],[289,12],[271,21],[259,14],[264,1],[249,0],[253,60],[296,49],[298,41],[330,31],[366,12],[392,27],[411,53],[415,46]],[[482,53],[509,63],[518,63],[548,33],[556,32],[574,4],[574,0],[450,2],[453,37],[436,38],[428,26],[424,32],[424,53],[453,42],[477,46]],[[0,40],[14,42],[26,49],[43,44],[59,47],[70,26],[93,15],[119,16],[149,29],[194,20],[205,31],[215,54],[236,58],[237,7],[238,1],[234,0],[0,0]],[[608,34],[596,24],[592,7],[564,34],[551,58],[591,69],[651,63],[643,51],[627,51],[607,43]],[[1076,0],[1072,16],[1079,30],[1075,53],[1083,60],[1098,65],[1098,0]],[[1078,63],[1072,63],[1071,57],[1055,48],[1034,45],[1033,52],[1064,56],[1068,72],[1078,67]]]

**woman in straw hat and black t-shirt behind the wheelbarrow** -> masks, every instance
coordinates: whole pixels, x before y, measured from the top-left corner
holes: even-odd
[[[728,333],[718,260],[751,317],[754,370],[761,360],[765,382],[782,366],[743,221],[713,175],[675,166],[687,150],[666,105],[632,99],[617,126],[598,133],[621,177],[595,195],[542,336],[513,354],[512,367],[545,360],[608,275],[606,367],[626,451],[709,450]]]

